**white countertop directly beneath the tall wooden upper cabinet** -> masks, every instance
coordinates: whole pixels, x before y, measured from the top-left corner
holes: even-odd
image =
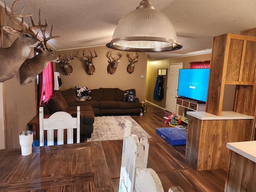
[[[187,114],[200,120],[253,119],[253,116],[237,113],[234,111],[222,111],[220,116],[206,113],[204,111],[188,111]]]

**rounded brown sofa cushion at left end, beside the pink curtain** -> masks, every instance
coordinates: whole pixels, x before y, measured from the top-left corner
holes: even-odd
[[[57,111],[66,111],[68,104],[63,98],[60,92],[54,92],[50,99],[47,101],[47,105],[50,109],[50,112],[55,113]]]

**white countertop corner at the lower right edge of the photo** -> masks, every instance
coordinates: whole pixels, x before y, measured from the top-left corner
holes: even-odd
[[[256,141],[227,143],[227,148],[256,163]]]

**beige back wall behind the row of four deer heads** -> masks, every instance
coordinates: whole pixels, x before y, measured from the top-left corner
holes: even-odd
[[[81,57],[84,49],[78,49],[79,55]],[[66,90],[68,88],[74,88],[75,86],[87,86],[89,89],[97,89],[97,88],[120,88],[122,90],[127,90],[131,88],[135,88],[136,96],[140,100],[145,99],[146,92],[146,68],[147,68],[147,57],[146,53],[138,53],[138,62],[135,63],[134,72],[132,74],[128,74],[126,71],[126,67],[129,64],[128,58],[126,57],[127,52],[123,52],[121,61],[118,63],[118,67],[114,74],[108,74],[107,66],[108,66],[108,58],[106,57],[106,53],[111,50],[106,46],[98,46],[92,48],[85,48],[86,55],[90,54],[89,50],[94,53],[95,50],[98,54],[98,57],[94,58],[93,64],[95,66],[94,75],[88,75],[85,71],[85,63],[83,61],[74,58],[70,62],[70,65],[73,68],[73,73],[71,76],[64,75],[63,67],[60,64],[54,64],[55,69],[60,72],[60,77],[62,80],[62,86],[60,90]],[[69,54],[74,53],[75,50],[65,50],[58,51],[59,54],[66,54],[69,57]],[[117,57],[118,51],[112,50],[112,57]],[[133,57],[134,52],[130,52],[130,56]],[[144,78],[141,78],[141,76]]]

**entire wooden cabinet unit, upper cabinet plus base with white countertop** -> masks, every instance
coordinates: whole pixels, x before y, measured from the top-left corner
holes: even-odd
[[[214,37],[204,114],[214,117],[200,119],[200,112],[188,112],[186,160],[196,170],[228,168],[230,152],[226,143],[252,140],[256,117],[255,70],[256,37],[230,33]],[[231,111],[234,118],[222,115],[226,84],[236,86]],[[243,115],[250,119],[243,119]]]

